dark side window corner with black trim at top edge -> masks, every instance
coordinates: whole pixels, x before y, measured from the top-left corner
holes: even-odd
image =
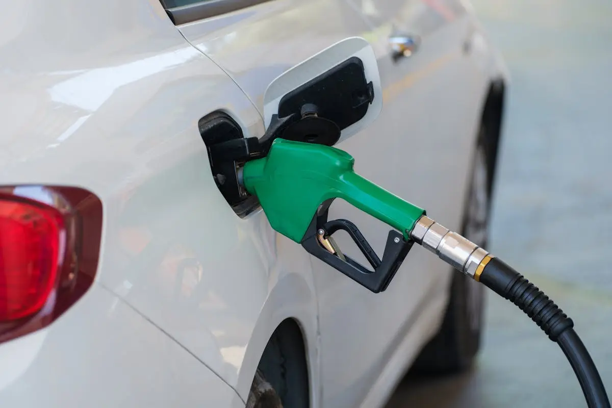
[[[272,0],[206,0],[187,6],[166,9],[174,25],[191,23],[204,18],[215,17],[220,14],[244,9]],[[163,4],[163,1],[162,1]]]

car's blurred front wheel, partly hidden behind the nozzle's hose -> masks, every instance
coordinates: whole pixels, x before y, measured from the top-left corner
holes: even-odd
[[[487,132],[481,126],[469,182],[461,234],[486,248],[490,214],[491,178]],[[480,347],[484,287],[463,273],[453,271],[450,300],[442,327],[414,363],[422,373],[449,374],[471,366]]]

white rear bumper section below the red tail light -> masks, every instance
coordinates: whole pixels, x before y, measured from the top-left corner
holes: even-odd
[[[107,289],[0,346],[3,407],[244,407],[231,387]]]

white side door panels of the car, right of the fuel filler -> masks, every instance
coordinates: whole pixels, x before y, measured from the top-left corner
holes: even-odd
[[[383,112],[337,146],[355,157],[357,172],[457,229],[490,81],[464,51],[473,21],[458,1],[277,0],[179,29],[228,72],[261,113],[267,84],[278,75],[338,40],[368,39],[383,81],[378,95]],[[418,36],[419,50],[392,61],[388,41],[394,33]],[[445,98],[432,97],[433,91],[444,92]],[[379,221],[344,202],[334,203],[330,218],[354,221],[382,252],[388,228]],[[343,238],[337,240],[340,247],[349,248]],[[312,262],[319,310],[325,311],[319,316],[323,406],[355,406],[411,330],[414,314],[423,313],[429,302],[443,307],[450,271],[415,249],[389,289],[371,294],[323,262]],[[436,302],[437,297],[444,302]],[[414,338],[419,342],[414,348],[439,324],[440,319],[432,319]]]

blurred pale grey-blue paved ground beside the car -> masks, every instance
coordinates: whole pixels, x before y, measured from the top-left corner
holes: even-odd
[[[610,393],[612,2],[472,2],[512,76],[491,250],[574,318]],[[387,408],[586,406],[558,347],[515,306],[488,304],[474,370],[407,378]]]

